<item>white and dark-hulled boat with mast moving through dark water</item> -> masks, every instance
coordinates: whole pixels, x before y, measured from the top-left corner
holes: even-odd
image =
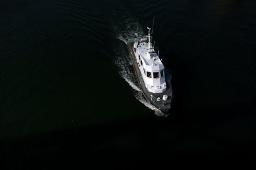
[[[153,21],[154,27],[154,21]],[[127,43],[127,50],[134,67],[139,86],[147,99],[157,109],[168,114],[173,100],[173,89],[170,80],[167,80],[162,59],[159,58],[155,42],[152,44],[151,28],[142,38],[135,38]]]

